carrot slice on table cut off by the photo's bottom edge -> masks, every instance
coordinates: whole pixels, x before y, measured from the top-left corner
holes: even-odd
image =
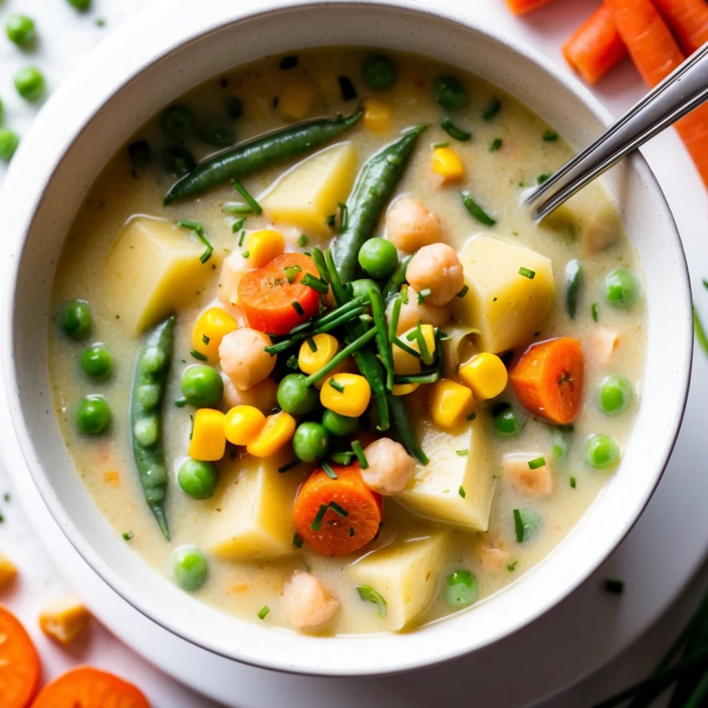
[[[42,688],[32,708],[150,708],[132,683],[92,666],[77,666]]]

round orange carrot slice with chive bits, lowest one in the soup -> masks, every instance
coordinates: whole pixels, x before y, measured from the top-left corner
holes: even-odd
[[[293,509],[295,528],[316,552],[346,556],[377,535],[382,501],[364,484],[358,462],[332,469],[336,479],[316,469],[300,487]]]

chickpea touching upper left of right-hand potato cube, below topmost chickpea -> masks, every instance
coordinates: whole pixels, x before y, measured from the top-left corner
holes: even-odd
[[[406,270],[406,279],[416,292],[430,290],[426,303],[446,305],[464,285],[462,263],[447,244],[423,246]],[[409,298],[410,299],[410,298]]]

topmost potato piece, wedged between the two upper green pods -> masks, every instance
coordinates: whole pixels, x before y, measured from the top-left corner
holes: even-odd
[[[346,202],[355,169],[353,144],[332,145],[287,171],[258,202],[275,224],[290,224],[308,236],[329,236],[325,219]]]

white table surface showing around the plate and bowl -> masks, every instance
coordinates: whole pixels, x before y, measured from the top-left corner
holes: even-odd
[[[6,124],[22,135],[39,108],[38,105],[25,103],[13,89],[12,77],[19,67],[36,64],[47,77],[48,90],[51,91],[111,28],[139,11],[145,2],[93,0],[93,10],[79,14],[66,0],[0,0],[0,23],[4,23],[8,13],[26,13],[37,22],[40,36],[35,50],[28,53],[19,51],[4,36],[0,36],[0,98],[6,108]],[[486,6],[491,18],[498,16],[500,21],[506,20],[503,0],[474,2]],[[598,0],[556,0],[552,6],[523,21],[515,21],[510,25],[510,32],[563,65],[559,50],[561,42],[597,5]],[[103,28],[96,25],[96,18],[105,19]],[[603,80],[595,89],[595,94],[612,113],[621,115],[644,91],[633,67],[627,63]],[[644,149],[644,153],[676,216],[687,250],[697,305],[708,318],[708,292],[701,285],[702,277],[708,275],[708,241],[704,238],[708,216],[707,194],[673,131],[655,139]],[[4,167],[0,165],[0,188],[3,176]],[[5,491],[11,495],[9,503],[1,501]],[[13,501],[12,494],[7,476],[0,469],[0,513],[5,519],[0,524],[0,549],[16,561],[21,571],[21,581],[9,593],[1,595],[0,601],[10,605],[33,634],[45,666],[45,678],[60,673],[77,661],[89,662],[135,681],[146,692],[154,708],[216,706],[150,666],[98,622],[94,623],[87,641],[70,651],[60,649],[41,635],[36,618],[42,602],[52,595],[69,591],[71,579],[64,578],[62,569],[55,566],[48,557],[30,530],[23,510]],[[656,570],[661,572],[661,568]],[[637,641],[632,649],[598,675],[546,702],[543,708],[586,708],[588,702],[595,697],[624,687],[635,678],[646,675],[663,647],[690,613],[692,605],[704,589],[706,576],[707,573],[701,573],[700,578],[685,590],[681,600],[666,617],[641,641]],[[74,589],[81,592],[81,588]],[[548,670],[552,671],[553,667],[549,666]],[[287,698],[283,700],[285,702]]]

